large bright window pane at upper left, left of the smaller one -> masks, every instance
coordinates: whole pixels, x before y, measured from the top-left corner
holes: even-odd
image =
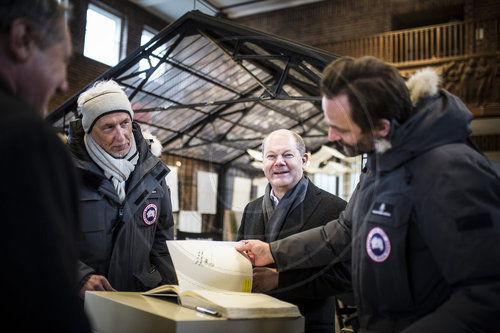
[[[83,55],[115,66],[120,61],[121,25],[119,17],[89,4]]]

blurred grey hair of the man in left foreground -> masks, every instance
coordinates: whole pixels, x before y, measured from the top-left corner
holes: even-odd
[[[37,45],[45,49],[64,37],[64,16],[69,7],[57,0],[0,0],[0,31],[9,31],[14,20],[26,18],[33,24]]]

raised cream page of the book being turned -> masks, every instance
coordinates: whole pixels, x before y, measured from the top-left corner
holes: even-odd
[[[187,289],[251,292],[252,264],[234,248],[238,242],[167,241],[180,292]]]

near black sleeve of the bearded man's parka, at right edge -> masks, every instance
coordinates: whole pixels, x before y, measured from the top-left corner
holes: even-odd
[[[404,332],[498,332],[500,180],[485,158],[455,151],[448,161],[432,173],[417,212],[419,230],[452,293]]]

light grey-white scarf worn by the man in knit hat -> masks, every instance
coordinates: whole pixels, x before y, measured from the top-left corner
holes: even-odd
[[[130,150],[122,158],[111,156],[94,141],[91,135],[85,133],[83,140],[90,158],[104,171],[104,176],[111,181],[120,201],[123,202],[125,200],[125,186],[122,186],[122,183],[127,181],[139,159],[135,138],[132,136]]]

